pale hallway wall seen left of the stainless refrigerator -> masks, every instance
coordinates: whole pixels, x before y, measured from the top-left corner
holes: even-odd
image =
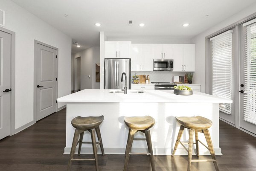
[[[99,84],[95,83],[95,63],[100,61],[99,54],[99,47],[91,47],[74,54],[74,58],[81,57],[81,90],[99,89]],[[76,64],[74,67],[76,70]],[[76,81],[76,76],[74,81]]]

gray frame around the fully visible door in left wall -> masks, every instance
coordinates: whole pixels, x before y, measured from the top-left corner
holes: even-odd
[[[33,121],[34,123],[36,123],[36,85],[37,85],[37,80],[36,80],[36,75],[37,75],[37,68],[36,68],[36,65],[37,65],[37,44],[41,44],[43,46],[47,46],[49,48],[52,48],[52,49],[55,49],[57,52],[57,62],[56,62],[56,75],[57,75],[57,81],[55,82],[56,84],[56,99],[58,98],[58,48],[57,47],[54,47],[54,46],[51,46],[49,44],[46,44],[46,43],[43,43],[41,41],[37,41],[37,40],[34,40],[34,118],[33,118]],[[55,112],[58,111],[58,103],[56,103],[56,108],[55,108]]]

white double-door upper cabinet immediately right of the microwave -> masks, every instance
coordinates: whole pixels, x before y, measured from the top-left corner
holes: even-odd
[[[195,44],[173,44],[173,71],[195,71]]]

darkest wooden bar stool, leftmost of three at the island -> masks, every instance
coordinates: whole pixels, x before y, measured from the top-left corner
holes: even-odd
[[[76,128],[76,130],[74,133],[73,143],[72,143],[72,147],[71,147],[71,151],[70,151],[70,160],[68,162],[68,167],[67,167],[68,171],[70,171],[70,169],[71,169],[72,161],[75,161],[75,160],[76,161],[84,161],[84,160],[95,161],[96,171],[99,171],[98,155],[97,155],[97,148],[99,147],[99,145],[100,145],[100,148],[102,151],[102,155],[103,156],[105,155],[103,144],[102,144],[102,138],[101,138],[101,134],[100,134],[100,130],[99,130],[99,125],[101,125],[103,120],[104,120],[104,116],[98,116],[98,117],[78,116],[78,117],[72,119],[71,124],[73,125],[74,128]],[[88,130],[91,133],[92,142],[83,142],[84,131],[86,131],[86,130]],[[96,142],[95,131],[96,131],[99,142]],[[79,139],[79,136],[80,136],[80,139]],[[82,143],[87,143],[87,144],[92,143],[93,155],[94,155],[93,159],[74,159],[76,146],[79,144],[78,155],[80,155]],[[97,146],[96,146],[96,143],[98,143]]]

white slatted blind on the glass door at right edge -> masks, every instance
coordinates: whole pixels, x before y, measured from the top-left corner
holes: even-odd
[[[256,22],[246,26],[244,36],[244,120],[256,124]]]

